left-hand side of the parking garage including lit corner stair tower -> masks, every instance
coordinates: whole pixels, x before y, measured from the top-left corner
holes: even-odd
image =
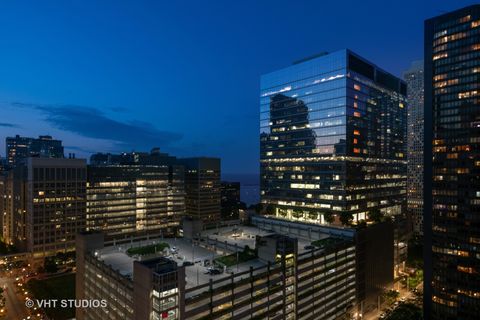
[[[122,274],[98,256],[104,249],[102,233],[79,234],[76,247],[76,298],[105,303],[102,308],[76,308],[77,319],[181,319],[184,267],[158,257],[130,261],[131,272]]]

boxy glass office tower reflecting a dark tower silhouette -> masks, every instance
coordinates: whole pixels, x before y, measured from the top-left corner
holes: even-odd
[[[406,85],[349,50],[262,76],[268,214],[327,223],[397,215],[406,194]],[[270,205],[270,206],[268,206]]]

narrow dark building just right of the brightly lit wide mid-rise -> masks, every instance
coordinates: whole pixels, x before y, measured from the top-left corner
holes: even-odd
[[[186,215],[204,222],[215,222],[221,212],[220,159],[184,158]]]

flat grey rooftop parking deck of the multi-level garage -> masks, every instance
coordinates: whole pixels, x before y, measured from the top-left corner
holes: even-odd
[[[129,256],[126,252],[129,248],[139,248],[148,245],[168,243],[170,249],[166,255],[178,266],[182,266],[184,262],[192,265],[185,266],[186,288],[197,287],[210,280],[219,280],[230,277],[230,274],[238,274],[265,266],[266,262],[254,258],[245,262],[241,262],[226,268],[221,274],[212,275],[208,272],[212,261],[218,257],[234,254],[236,251],[242,251],[245,246],[255,249],[255,239],[257,236],[277,235],[279,233],[263,230],[252,226],[229,226],[203,231],[200,241],[192,244],[190,240],[184,238],[164,238],[136,241],[132,243],[124,243],[115,246],[107,246],[95,252],[97,259],[109,265],[112,269],[117,270],[125,277],[133,277],[133,264],[136,260],[142,260],[137,256]],[[325,238],[328,238],[325,235]],[[324,239],[324,238],[322,238]],[[301,254],[310,251],[312,247],[312,239],[306,237],[297,237],[298,253]],[[160,256],[158,254],[157,256]],[[144,256],[143,260],[148,260],[155,255]]]

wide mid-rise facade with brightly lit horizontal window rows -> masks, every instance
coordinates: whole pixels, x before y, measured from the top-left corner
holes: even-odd
[[[185,215],[184,171],[178,165],[89,166],[87,230],[107,240],[176,235]]]

